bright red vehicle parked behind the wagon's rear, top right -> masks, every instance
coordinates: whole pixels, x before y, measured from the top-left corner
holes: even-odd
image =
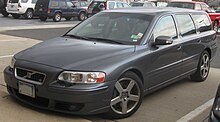
[[[209,9],[209,6],[204,2],[196,1],[172,1],[169,2],[168,7],[178,7],[178,8],[188,8],[195,10],[203,10],[208,12],[209,17],[211,18],[213,29],[218,32],[220,26],[220,13],[215,13]]]

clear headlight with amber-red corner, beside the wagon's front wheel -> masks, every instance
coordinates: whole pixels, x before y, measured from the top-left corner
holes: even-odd
[[[102,83],[105,81],[105,73],[103,72],[62,72],[58,80],[69,83]]]

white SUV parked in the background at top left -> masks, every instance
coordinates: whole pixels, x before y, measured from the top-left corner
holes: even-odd
[[[8,0],[7,12],[15,19],[23,15],[27,19],[31,19],[34,14],[34,7],[37,0]]]

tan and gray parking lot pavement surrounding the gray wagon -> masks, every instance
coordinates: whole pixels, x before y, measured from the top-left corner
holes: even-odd
[[[126,119],[106,120],[103,115],[74,116],[43,111],[26,106],[12,99],[7,93],[3,78],[3,70],[9,65],[12,55],[40,43],[42,40],[60,36],[77,23],[78,21],[42,23],[38,19],[14,20],[0,16],[0,121],[175,122],[178,120],[187,120],[184,119],[185,115],[200,108],[200,106],[214,98],[218,84],[220,83],[220,49],[218,49],[216,57],[212,62],[210,75],[205,82],[195,83],[186,78],[147,95],[139,110],[133,116]],[[219,37],[218,42],[220,42]],[[199,113],[198,116],[191,118],[190,121],[207,121],[209,109],[210,106],[207,106],[204,111]]]

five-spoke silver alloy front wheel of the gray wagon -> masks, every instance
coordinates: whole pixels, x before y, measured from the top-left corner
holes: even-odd
[[[111,109],[118,114],[131,112],[140,100],[140,88],[136,81],[131,78],[122,78],[115,84]]]

